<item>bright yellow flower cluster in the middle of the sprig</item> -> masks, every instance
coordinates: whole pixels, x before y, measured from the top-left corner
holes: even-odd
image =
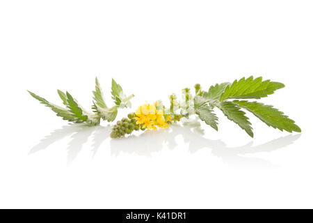
[[[142,125],[142,128],[147,128],[148,130],[156,130],[159,128],[168,127],[166,123],[166,118],[164,118],[164,113],[162,109],[157,109],[158,102],[154,105],[141,105],[136,110],[136,124]]]

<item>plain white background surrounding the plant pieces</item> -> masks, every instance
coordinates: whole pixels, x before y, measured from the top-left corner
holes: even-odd
[[[313,208],[312,1],[0,1],[1,208]],[[113,77],[144,102],[200,83],[263,76],[262,99],[301,134],[248,114],[250,138],[188,123],[111,140],[68,125],[27,89],[108,104]],[[118,114],[118,119],[131,109]],[[202,130],[199,130],[202,128]]]

